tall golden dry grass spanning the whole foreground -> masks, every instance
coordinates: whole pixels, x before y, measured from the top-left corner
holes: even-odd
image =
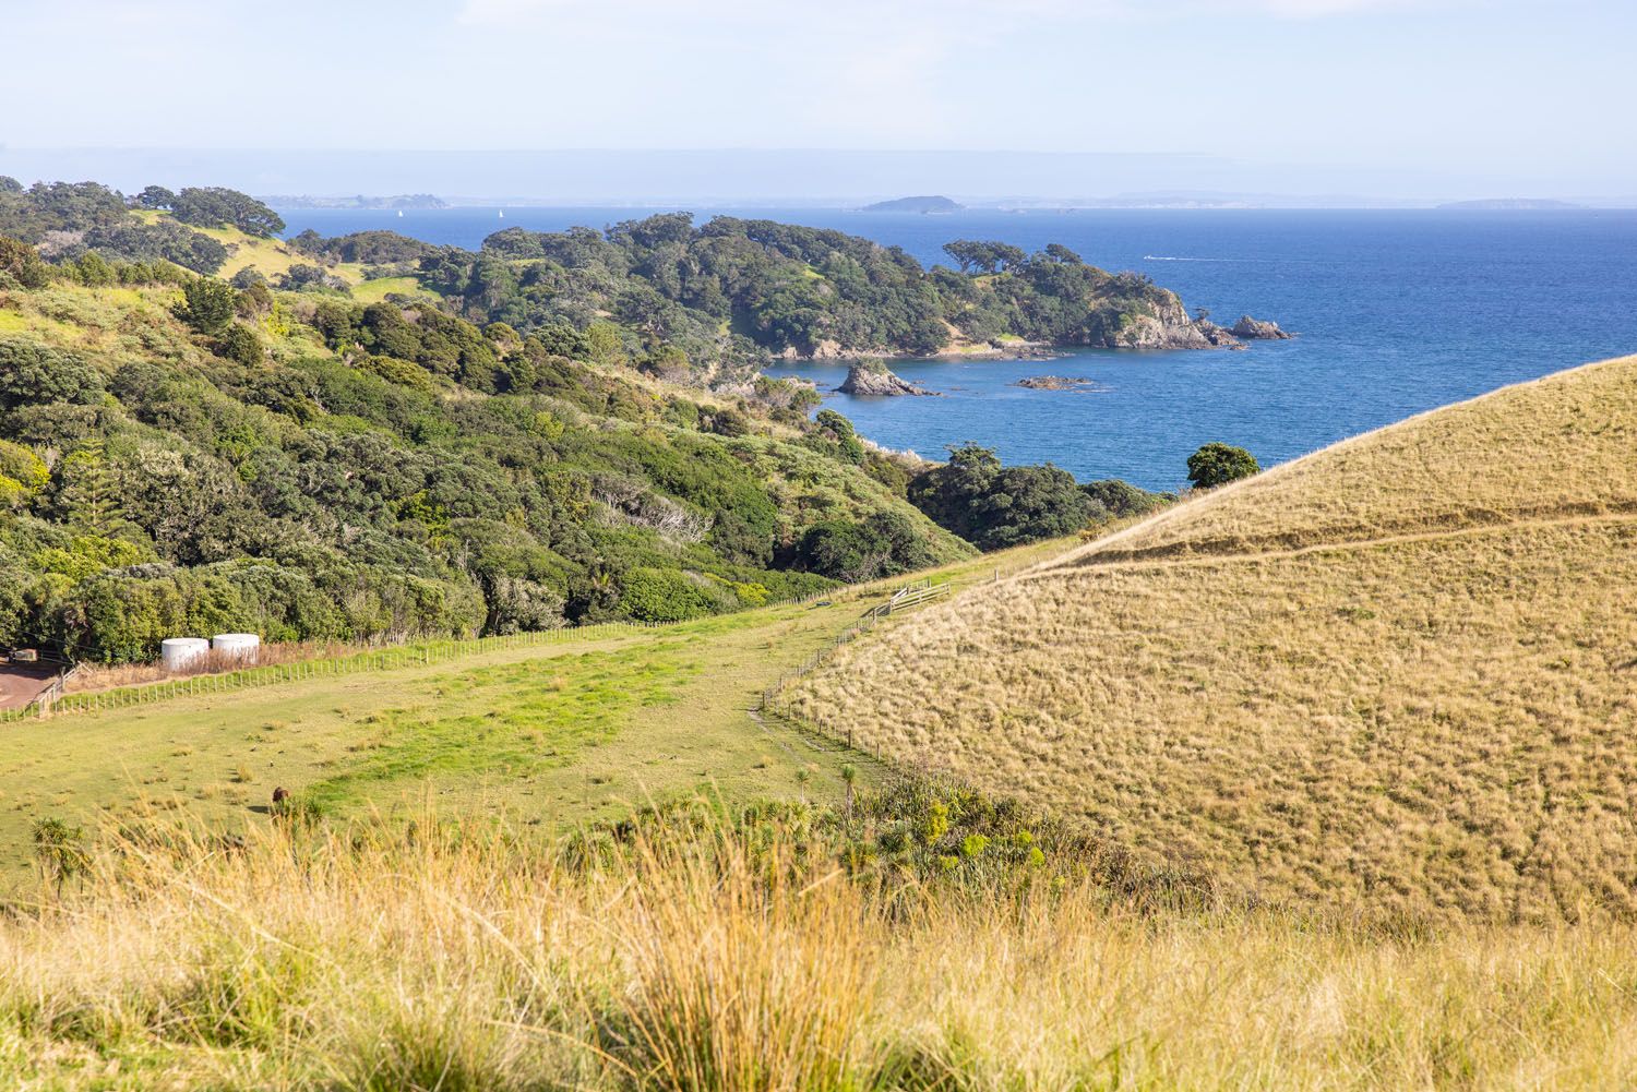
[[[768,846],[584,871],[445,833],[141,845],[0,915],[0,1087],[61,1092],[1629,1089],[1637,932],[1434,941],[897,897]],[[763,833],[768,833],[766,830]],[[779,851],[778,843],[773,843]],[[782,846],[787,851],[791,846]]]

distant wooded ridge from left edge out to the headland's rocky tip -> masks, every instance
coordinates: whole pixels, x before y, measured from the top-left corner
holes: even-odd
[[[1108,273],[1062,246],[1026,254],[961,239],[958,267],[922,268],[900,247],[768,219],[689,213],[530,232],[507,228],[478,252],[390,231],[244,246],[283,221],[219,187],[147,187],[129,201],[97,183],[0,178],[0,236],[51,260],[169,260],[304,291],[434,298],[471,323],[506,323],[565,352],[588,332],[604,354],[673,378],[735,381],[771,357],[982,352],[1018,341],[1197,349],[1234,344],[1139,273]],[[380,288],[368,288],[375,283]],[[362,290],[362,291],[360,291]]]

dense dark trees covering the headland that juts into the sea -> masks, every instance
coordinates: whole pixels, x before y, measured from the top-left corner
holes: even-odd
[[[298,246],[347,260],[375,242]],[[1061,246],[1036,255],[1003,242],[948,249],[961,272],[923,270],[899,247],[838,231],[733,216],[696,228],[691,214],[666,213],[607,232],[507,228],[478,254],[444,247],[421,255],[417,268],[473,321],[534,332],[614,316],[629,357],[666,344],[696,368],[735,373],[769,354],[933,354],[956,334],[1115,344],[1130,316],[1175,301]],[[381,260],[404,254],[385,249]]]

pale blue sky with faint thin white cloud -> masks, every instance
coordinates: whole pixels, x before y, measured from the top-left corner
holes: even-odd
[[[1634,0],[0,0],[0,172],[87,162],[39,149],[846,149],[1152,164],[1020,178],[1084,195],[1637,193]],[[359,188],[326,170],[288,182]],[[971,182],[1005,190],[992,174]]]

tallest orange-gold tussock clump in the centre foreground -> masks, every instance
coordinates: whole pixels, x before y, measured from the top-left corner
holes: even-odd
[[[606,1049],[652,1087],[851,1087],[874,986],[861,891],[833,864],[792,868],[789,845],[704,855],[638,837],[632,848],[630,977]]]

